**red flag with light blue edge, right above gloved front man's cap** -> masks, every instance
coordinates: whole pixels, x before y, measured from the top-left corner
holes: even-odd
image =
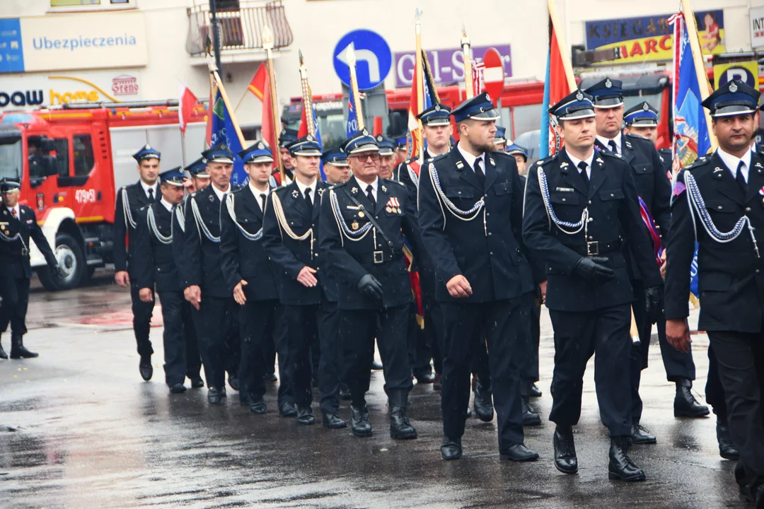
[[[562,148],[562,140],[555,130],[557,119],[547,109],[575,90],[575,77],[568,53],[562,44],[562,25],[559,24],[554,0],[547,0],[549,8],[549,51],[546,53],[546,78],[544,80],[544,101],[541,112],[541,158],[552,156]]]

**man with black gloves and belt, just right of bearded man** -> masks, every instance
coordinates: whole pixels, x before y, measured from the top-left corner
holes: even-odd
[[[552,412],[555,467],[578,472],[573,426],[581,417],[584,370],[594,354],[597,400],[610,430],[608,475],[643,481],[644,472],[627,455],[633,422],[629,336],[633,289],[621,249],[626,240],[643,276],[640,299],[647,314],[659,303],[661,276],[642,217],[628,163],[615,153],[594,150],[594,105],[580,90],[552,108],[565,142],[555,156],[528,172],[523,238],[546,267],[546,307],[555,331]],[[489,350],[490,351],[490,350]]]

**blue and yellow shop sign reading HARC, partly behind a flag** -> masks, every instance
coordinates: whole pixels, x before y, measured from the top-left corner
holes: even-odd
[[[670,14],[586,22],[586,49],[620,49],[620,59],[609,63],[640,63],[673,57]],[[696,11],[698,35],[704,54],[724,53],[724,14]]]

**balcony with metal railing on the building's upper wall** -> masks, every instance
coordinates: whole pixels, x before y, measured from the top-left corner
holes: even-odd
[[[238,8],[217,11],[221,54],[226,51],[262,50],[264,24],[268,24],[274,33],[275,48],[287,47],[292,43],[292,29],[286,21],[281,0],[237,3]],[[186,50],[192,55],[202,55],[214,40],[209,5],[195,5],[188,9],[188,15]]]

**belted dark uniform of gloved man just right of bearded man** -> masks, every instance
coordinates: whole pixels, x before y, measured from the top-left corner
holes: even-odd
[[[550,212],[542,199],[539,169],[544,172]],[[626,257],[650,286],[661,277],[639,214],[639,201],[626,161],[609,152],[595,152],[588,185],[565,149],[531,166],[526,185],[523,237],[534,256],[545,259],[546,306],[555,330],[555,369],[549,420],[568,426],[581,415],[581,391],[588,359],[595,356],[597,400],[611,437],[630,436],[632,429],[629,372],[630,307],[635,292],[629,284]],[[584,207],[589,221],[575,234]],[[552,219],[554,217],[555,219]],[[585,237],[588,234],[588,237]],[[622,250],[621,239],[630,246]],[[591,245],[589,243],[594,243]],[[613,279],[594,285],[578,276],[575,266],[594,250],[613,270]],[[639,301],[644,303],[644,296]],[[644,304],[643,304],[644,305]],[[636,307],[636,306],[635,306]]]

